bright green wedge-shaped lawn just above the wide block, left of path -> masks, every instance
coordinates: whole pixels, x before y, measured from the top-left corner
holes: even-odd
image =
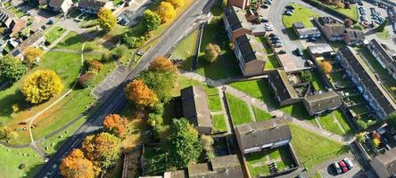
[[[237,99],[231,94],[227,94],[227,102],[234,126],[253,121],[249,106],[244,101]]]

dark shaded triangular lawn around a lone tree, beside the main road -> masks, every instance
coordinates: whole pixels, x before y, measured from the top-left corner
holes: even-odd
[[[229,48],[230,43],[227,32],[223,28],[221,20],[221,9],[215,6],[212,10],[213,20],[205,26],[202,34],[201,51],[196,72],[202,76],[211,79],[221,79],[227,77],[241,76],[241,71],[235,57],[235,53]],[[207,44],[218,44],[221,48],[221,54],[218,61],[210,63],[204,58],[204,49]]]

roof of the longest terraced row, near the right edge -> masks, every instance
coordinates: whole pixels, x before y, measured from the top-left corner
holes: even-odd
[[[366,86],[367,90],[373,95],[375,100],[379,103],[380,107],[384,109],[386,114],[391,114],[396,110],[396,104],[392,100],[389,93],[384,90],[375,78],[374,74],[371,73],[367,64],[360,59],[355,52],[349,46],[342,46],[339,53],[348,61],[353,71],[358,75],[360,81]]]

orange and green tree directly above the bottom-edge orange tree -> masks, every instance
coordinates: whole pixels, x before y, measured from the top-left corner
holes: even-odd
[[[95,166],[107,168],[119,158],[119,143],[120,139],[113,134],[94,134],[84,139],[81,149]]]

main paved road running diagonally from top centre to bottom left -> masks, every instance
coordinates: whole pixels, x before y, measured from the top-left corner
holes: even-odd
[[[163,37],[157,44],[154,44],[152,50],[147,52],[137,64],[136,68],[128,71],[126,77],[121,85],[116,86],[114,92],[110,93],[110,97],[103,101],[103,104],[95,110],[94,114],[87,119],[87,121],[78,128],[78,131],[73,134],[70,139],[62,144],[52,158],[43,166],[35,177],[61,177],[59,173],[59,163],[68,152],[74,148],[78,148],[87,134],[93,134],[100,131],[103,123],[103,117],[107,114],[119,112],[127,103],[127,99],[123,93],[123,87],[131,79],[136,77],[141,71],[147,68],[153,57],[161,56],[169,53],[172,44],[177,44],[181,36],[186,32],[186,27],[194,25],[195,18],[207,11],[207,5],[210,0],[197,0],[192,6],[180,15],[179,19],[175,21],[163,34]]]

